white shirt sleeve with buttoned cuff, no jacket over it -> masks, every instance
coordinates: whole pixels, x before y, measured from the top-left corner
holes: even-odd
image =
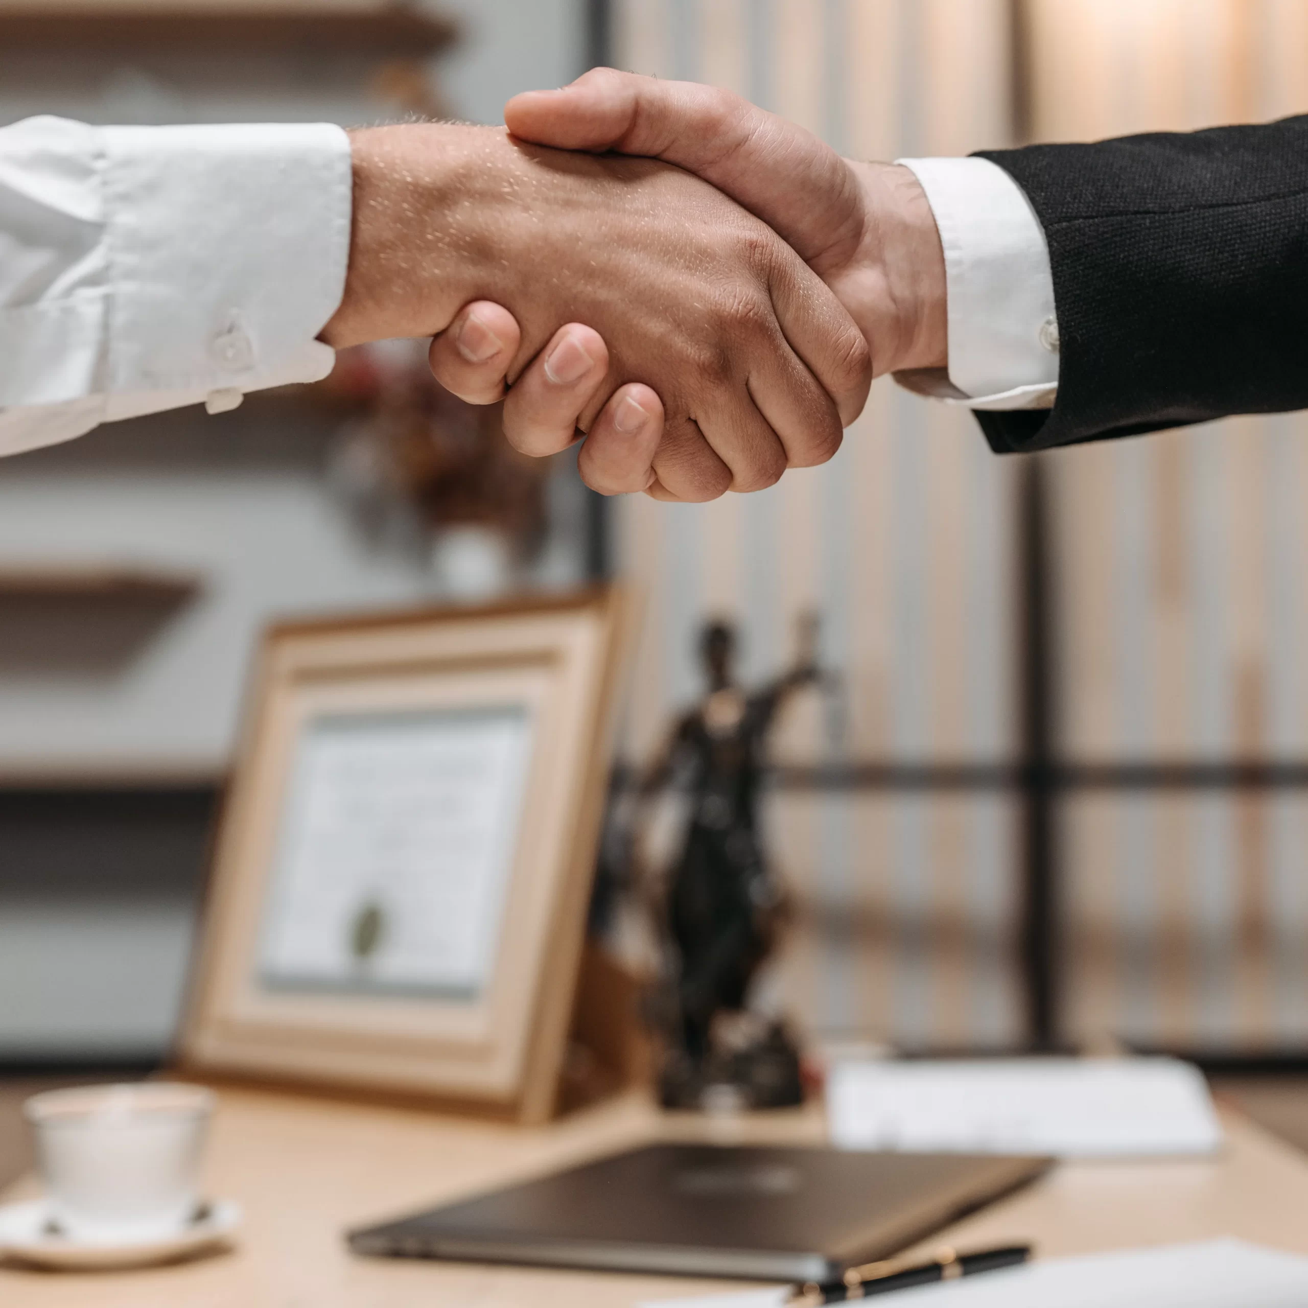
[[[330,124],[0,128],[0,454],[326,377],[351,204]]]

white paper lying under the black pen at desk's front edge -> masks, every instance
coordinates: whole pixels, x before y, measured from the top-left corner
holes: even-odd
[[[662,1299],[640,1308],[778,1308],[787,1288]],[[870,1308],[1304,1308],[1308,1258],[1243,1240],[1049,1258],[874,1295]]]

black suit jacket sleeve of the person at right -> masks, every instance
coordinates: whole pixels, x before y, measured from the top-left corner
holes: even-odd
[[[1308,408],[1308,116],[982,157],[1044,225],[1061,339],[1053,409],[977,413],[993,449]]]

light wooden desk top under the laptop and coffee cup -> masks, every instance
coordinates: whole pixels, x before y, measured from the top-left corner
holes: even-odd
[[[1235,1113],[1226,1116],[1226,1124],[1230,1144],[1216,1162],[1065,1165],[952,1227],[948,1241],[968,1247],[1033,1239],[1041,1253],[1061,1254],[1237,1235],[1308,1253],[1308,1158]],[[638,1096],[525,1130],[224,1091],[207,1188],[245,1206],[246,1228],[234,1253],[106,1275],[0,1267],[0,1303],[5,1308],[627,1308],[641,1299],[725,1290],[730,1283],[356,1258],[340,1232],[657,1135],[816,1142],[821,1134],[816,1112],[714,1127],[695,1118],[661,1118]],[[33,1190],[26,1180],[5,1198]]]

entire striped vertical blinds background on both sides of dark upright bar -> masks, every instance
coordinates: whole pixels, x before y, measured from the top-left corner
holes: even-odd
[[[620,64],[739,90],[867,158],[1005,144],[1015,90],[1042,140],[1308,110],[1308,0],[617,9]],[[1141,765],[1059,804],[1069,1039],[1308,1040],[1308,793],[1222,781],[1235,761],[1308,759],[1305,437],[1287,415],[1042,455],[1057,752]],[[649,602],[630,757],[696,693],[705,616],[742,623],[760,678],[812,606],[845,730],[828,740],[816,702],[800,705],[782,759],[838,746],[927,768],[1011,761],[1015,477],[965,415],[880,382],[825,468],[706,506],[624,501],[621,561]],[[1190,781],[1158,785],[1173,764]],[[1215,769],[1205,785],[1198,764]],[[1016,803],[1002,789],[777,794],[773,845],[798,904],[774,978],[786,1005],[819,1029],[905,1044],[1015,1039]]]

